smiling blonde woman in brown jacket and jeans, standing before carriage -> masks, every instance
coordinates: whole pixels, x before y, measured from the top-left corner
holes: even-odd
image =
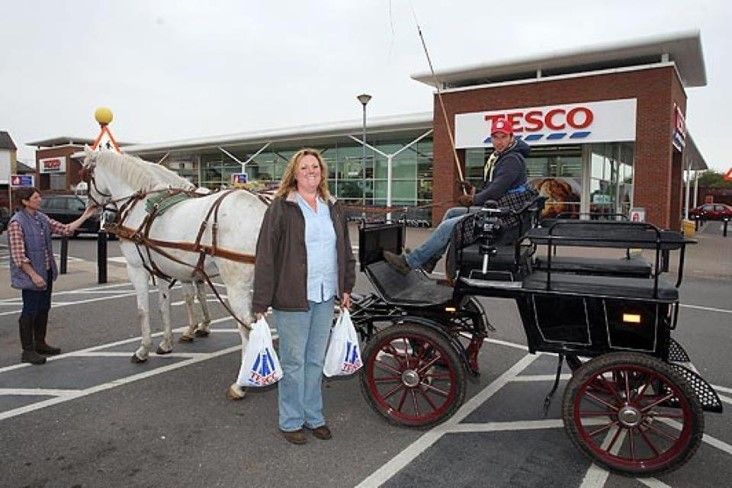
[[[279,427],[287,441],[305,444],[303,429],[331,438],[323,416],[321,378],[335,297],[349,308],[356,281],[346,217],[330,196],[328,170],[314,149],[296,152],[259,232],[252,308],[269,306],[279,334],[283,377]]]

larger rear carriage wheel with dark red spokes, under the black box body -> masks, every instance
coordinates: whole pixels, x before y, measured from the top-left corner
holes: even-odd
[[[663,361],[637,353],[583,364],[567,384],[562,417],[575,446],[628,475],[681,467],[704,433],[701,405],[686,380]]]

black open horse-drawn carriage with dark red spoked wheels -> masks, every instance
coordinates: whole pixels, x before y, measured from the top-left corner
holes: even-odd
[[[529,352],[558,355],[550,395],[562,364],[572,371],[561,411],[575,446],[625,474],[680,467],[701,443],[703,411],[722,410],[671,337],[684,249],[693,241],[645,223],[540,222],[542,203],[464,218],[453,234],[448,284],[417,270],[402,275],[383,261],[384,250],[402,251],[402,224],[360,226],[361,271],[374,288],[352,311],[365,340],[365,398],[395,424],[424,428],[448,419],[464,400],[467,376],[479,374],[478,353],[492,330],[477,297],[512,299]],[[521,237],[502,245],[510,214]],[[653,260],[557,255],[577,246],[646,249]],[[673,284],[661,276],[672,251],[679,254]]]

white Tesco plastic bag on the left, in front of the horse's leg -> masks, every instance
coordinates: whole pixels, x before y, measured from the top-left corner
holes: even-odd
[[[282,367],[272,346],[272,334],[264,318],[249,333],[249,344],[241,353],[239,386],[267,386],[282,378]]]

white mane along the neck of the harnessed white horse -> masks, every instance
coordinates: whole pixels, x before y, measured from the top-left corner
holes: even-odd
[[[96,162],[103,164],[105,168],[127,181],[135,189],[149,191],[161,185],[189,190],[195,188],[190,181],[178,176],[168,168],[137,156],[104,151],[96,154]]]

